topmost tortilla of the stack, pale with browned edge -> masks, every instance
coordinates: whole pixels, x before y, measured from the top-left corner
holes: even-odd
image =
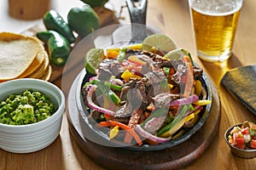
[[[41,43],[35,37],[0,33],[0,82],[19,77],[32,65]]]

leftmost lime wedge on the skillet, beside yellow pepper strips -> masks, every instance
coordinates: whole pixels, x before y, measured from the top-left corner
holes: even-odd
[[[91,48],[84,57],[84,66],[86,71],[96,75],[96,69],[105,59],[104,50],[101,48]]]

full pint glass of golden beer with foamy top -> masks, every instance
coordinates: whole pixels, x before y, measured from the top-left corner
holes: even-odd
[[[189,0],[198,57],[222,62],[229,59],[242,0]]]

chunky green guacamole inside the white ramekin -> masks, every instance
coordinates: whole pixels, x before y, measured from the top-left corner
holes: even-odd
[[[0,122],[9,125],[40,122],[54,113],[55,108],[49,97],[32,89],[11,94],[0,103]]]

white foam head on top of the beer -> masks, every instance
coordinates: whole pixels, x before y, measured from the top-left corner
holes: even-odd
[[[234,14],[242,6],[242,0],[190,0],[189,3],[195,11],[213,16]]]

